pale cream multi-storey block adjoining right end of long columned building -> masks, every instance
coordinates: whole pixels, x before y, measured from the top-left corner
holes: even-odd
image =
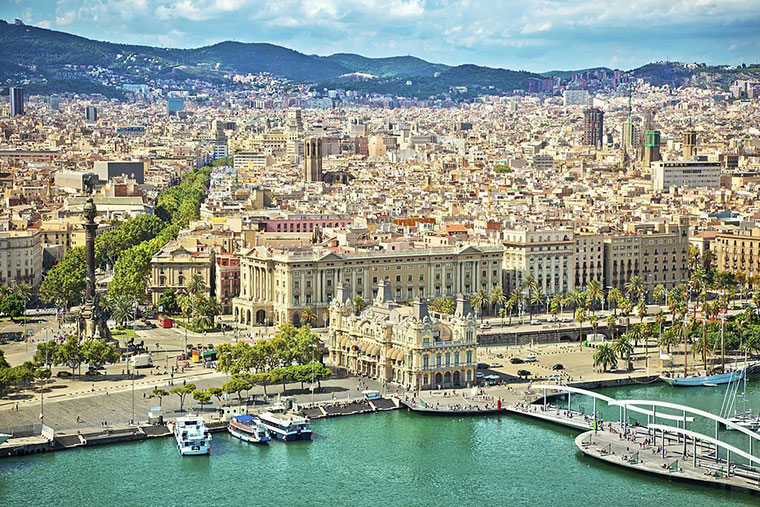
[[[573,288],[573,231],[504,231],[504,282],[506,293],[520,289],[533,277],[547,296]]]

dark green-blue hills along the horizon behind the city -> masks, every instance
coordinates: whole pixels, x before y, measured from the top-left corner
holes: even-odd
[[[547,77],[569,79],[577,72],[537,74],[477,65],[449,66],[413,56],[367,58],[352,53],[307,55],[267,43],[220,42],[193,49],[118,44],[0,20],[0,83],[24,83],[31,93],[102,93],[119,96],[125,82],[193,79],[233,86],[229,74],[268,72],[328,88],[426,98],[466,88],[470,95],[527,90]],[[610,70],[605,67],[587,70]],[[712,69],[712,70],[710,70]],[[717,70],[716,70],[717,69]],[[725,74],[725,67],[700,72]],[[760,74],[760,67],[746,69]],[[677,63],[649,64],[630,71],[653,84],[680,85],[694,70]],[[461,91],[461,90],[460,90]]]

